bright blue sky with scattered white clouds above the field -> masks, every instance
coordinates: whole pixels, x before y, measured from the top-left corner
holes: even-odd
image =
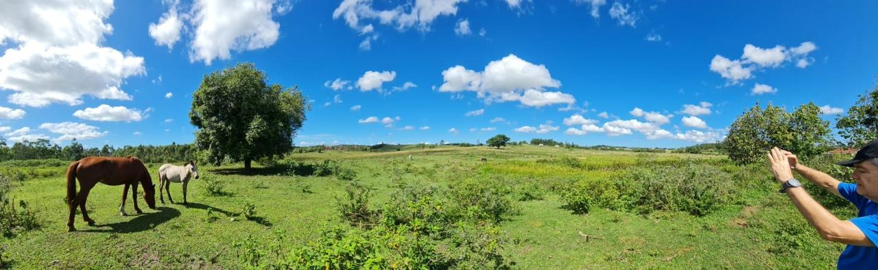
[[[191,143],[202,77],[248,61],[309,97],[297,146],[679,147],[755,103],[834,121],[878,75],[866,1],[232,3],[0,4],[0,136]]]

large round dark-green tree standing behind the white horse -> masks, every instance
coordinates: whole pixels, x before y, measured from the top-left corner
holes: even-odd
[[[224,157],[252,160],[287,153],[311,107],[298,88],[269,84],[252,63],[206,75],[189,112],[198,148],[219,164]]]

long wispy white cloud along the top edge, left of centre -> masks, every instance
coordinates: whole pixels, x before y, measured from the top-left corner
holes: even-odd
[[[381,25],[394,26],[398,31],[406,31],[417,26],[421,32],[428,32],[430,25],[439,16],[457,14],[457,4],[465,0],[419,0],[414,4],[401,4],[390,10],[377,11],[369,0],[344,0],[332,13],[333,19],[344,18],[347,25],[361,32],[361,21],[375,20]]]

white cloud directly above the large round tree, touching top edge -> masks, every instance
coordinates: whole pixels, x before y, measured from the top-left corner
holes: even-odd
[[[191,24],[195,28],[189,59],[231,58],[231,51],[251,51],[274,45],[280,25],[271,20],[275,0],[212,1],[192,4]]]

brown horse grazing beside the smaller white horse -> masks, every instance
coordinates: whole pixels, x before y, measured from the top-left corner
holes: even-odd
[[[76,179],[79,179],[79,193],[76,193]],[[70,163],[67,168],[67,202],[70,208],[70,218],[67,221],[68,231],[76,231],[73,226],[73,218],[76,216],[76,206],[83,212],[83,220],[89,225],[95,225],[95,221],[89,218],[85,211],[85,201],[89,197],[89,191],[97,182],[111,186],[124,184],[125,191],[122,193],[122,206],[119,211],[125,216],[125,198],[128,186],[132,186],[131,197],[134,201],[134,210],[138,214],[143,211],[137,207],[137,182],[143,186],[143,199],[147,201],[150,209],[155,209],[155,185],[149,176],[147,167],[137,158],[131,156],[125,158],[88,157]]]

